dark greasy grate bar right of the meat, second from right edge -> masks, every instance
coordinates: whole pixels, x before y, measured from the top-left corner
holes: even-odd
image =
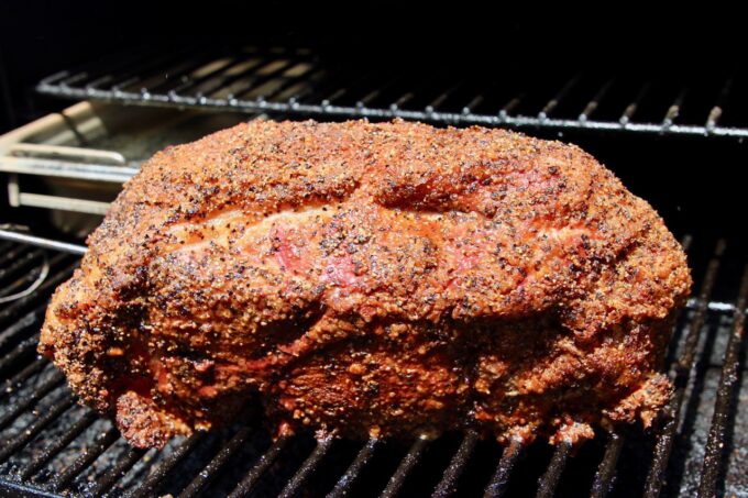
[[[675,392],[673,394],[672,400],[667,408],[669,411],[668,421],[664,423],[654,446],[654,456],[652,458],[651,466],[649,467],[649,474],[645,485],[644,496],[646,498],[657,498],[660,495],[660,489],[662,488],[664,474],[670,461],[670,451],[678,431],[678,421],[680,418],[681,406],[683,405],[683,399],[685,397],[685,387],[696,356],[698,337],[701,336],[701,331],[704,328],[704,323],[706,321],[708,300],[714,289],[717,272],[719,269],[719,262],[724,252],[725,242],[717,242],[714,256],[707,265],[704,283],[702,284],[701,290],[698,292],[696,314],[691,321],[689,333],[685,337],[685,343],[683,344],[683,351],[678,359],[678,363],[675,364],[675,377],[673,380]]]

